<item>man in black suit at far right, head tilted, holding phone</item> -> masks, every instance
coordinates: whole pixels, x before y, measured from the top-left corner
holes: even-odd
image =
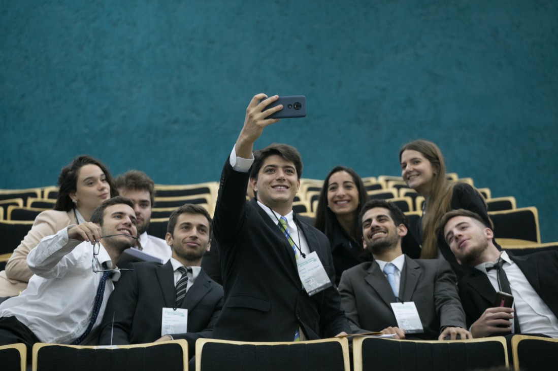
[[[457,261],[475,268],[459,281],[475,338],[511,333],[558,338],[558,252],[499,251],[490,227],[463,209],[446,213],[440,228]],[[496,305],[497,291],[513,296],[513,308]]]

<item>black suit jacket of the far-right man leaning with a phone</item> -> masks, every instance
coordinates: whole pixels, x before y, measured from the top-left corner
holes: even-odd
[[[538,296],[558,317],[558,252],[543,251],[524,256],[508,253],[508,256],[517,264]],[[494,306],[496,290],[490,284],[487,275],[473,269],[459,281],[459,296],[465,310],[467,325],[470,326],[485,310]]]

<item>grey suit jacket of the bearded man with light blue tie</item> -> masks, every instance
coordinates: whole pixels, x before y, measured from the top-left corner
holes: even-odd
[[[397,326],[390,305],[396,298],[377,262],[365,262],[343,272],[339,292],[353,333]],[[445,260],[405,256],[399,297],[403,302],[415,302],[424,328],[424,334],[410,334],[407,339],[434,340],[446,326],[466,328],[455,274]]]

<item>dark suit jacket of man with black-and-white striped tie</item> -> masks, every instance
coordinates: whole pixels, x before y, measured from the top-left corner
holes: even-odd
[[[110,295],[101,323],[99,343],[151,343],[161,337],[163,307],[174,307],[175,285],[171,262],[131,263]],[[188,310],[188,332],[173,334],[175,339],[188,341],[190,357],[195,353],[198,338],[211,338],[213,326],[223,307],[223,287],[212,281],[203,270],[186,292],[182,308]]]

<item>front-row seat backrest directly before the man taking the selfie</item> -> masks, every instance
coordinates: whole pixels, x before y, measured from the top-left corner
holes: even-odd
[[[252,343],[218,339],[196,341],[196,371],[349,371],[347,339]]]

